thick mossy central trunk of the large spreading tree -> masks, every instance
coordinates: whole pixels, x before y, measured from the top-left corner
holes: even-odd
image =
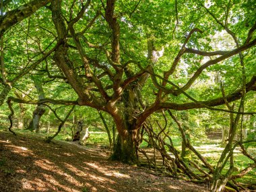
[[[148,39],[148,61],[153,65],[158,61],[158,51],[154,47],[154,39],[149,37]],[[151,65],[148,65],[147,69],[150,69]],[[125,69],[127,77],[131,77],[133,73],[127,67]],[[150,77],[148,73],[141,75],[141,77],[127,86],[127,90],[123,93],[123,119],[122,122],[116,122],[117,127],[121,127],[124,133],[119,133],[117,137],[117,143],[114,148],[114,152],[110,157],[112,160],[121,160],[129,164],[136,164],[138,161],[137,147],[139,147],[139,127],[136,127],[136,116],[140,113],[141,109],[145,107],[141,100],[141,89]],[[114,117],[115,119],[115,117]],[[119,125],[121,124],[121,125]],[[135,129],[136,127],[136,129]],[[120,130],[120,129],[117,129]]]

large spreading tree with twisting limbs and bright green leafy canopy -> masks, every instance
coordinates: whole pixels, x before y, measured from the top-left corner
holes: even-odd
[[[256,91],[255,18],[251,1],[30,1],[1,16],[1,100],[40,71],[44,84],[64,84],[70,96],[11,96],[9,106],[49,102],[102,110],[119,133],[111,158],[135,163],[139,130],[153,113],[208,108],[251,114],[220,106],[244,102]],[[27,65],[13,72],[11,63],[20,61],[8,47],[15,39],[25,44],[19,50]],[[213,71],[224,87],[206,87],[202,96],[196,85]]]

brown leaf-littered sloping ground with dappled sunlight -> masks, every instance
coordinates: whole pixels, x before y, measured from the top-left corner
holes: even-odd
[[[98,147],[0,130],[0,191],[207,191],[108,156]]]

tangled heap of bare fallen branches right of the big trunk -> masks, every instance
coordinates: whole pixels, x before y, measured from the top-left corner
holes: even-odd
[[[241,107],[238,109],[241,110]],[[189,142],[189,139],[185,138],[185,133],[183,130],[183,127],[181,125],[181,123],[179,123],[178,119],[176,117],[174,117],[174,115],[172,115],[172,113],[170,112],[170,110],[168,110],[168,113],[170,114],[170,116],[172,117],[172,119],[174,120],[174,122],[177,123],[177,126],[179,128],[179,130],[181,131],[181,135],[183,135],[183,141],[185,141],[185,146],[187,148],[189,148],[191,150],[191,152],[193,152],[195,154],[195,156],[193,156],[193,160],[188,160],[187,163],[193,165],[197,170],[194,170],[191,167],[187,166],[187,163],[184,162],[184,160],[181,158],[180,156],[180,152],[174,148],[173,143],[172,143],[172,139],[170,137],[170,135],[166,134],[166,132],[164,131],[164,128],[162,128],[162,125],[160,125],[160,123],[158,124],[158,127],[160,128],[160,131],[157,133],[156,129],[154,129],[150,124],[150,126],[148,125],[148,123],[144,124],[144,128],[146,129],[146,132],[148,133],[148,140],[147,139],[143,139],[144,141],[151,143],[154,147],[154,149],[158,150],[158,152],[160,152],[160,154],[162,155],[163,158],[163,166],[166,166],[166,169],[169,170],[170,172],[172,172],[171,176],[172,177],[179,177],[179,175],[181,175],[181,172],[183,172],[184,174],[187,175],[187,177],[189,177],[189,181],[193,181],[195,183],[212,183],[215,179],[215,175],[216,172],[218,172],[219,168],[218,166],[212,166],[210,165],[207,160],[205,160],[205,158],[203,158],[203,156],[197,152],[197,150],[195,150],[195,148],[192,146],[192,144]],[[164,114],[163,114],[164,115]],[[231,117],[231,116],[230,116]],[[238,125],[238,117],[241,117],[240,115],[237,115],[236,118],[233,119],[234,123],[236,125]],[[166,123],[164,123],[164,126],[166,125]],[[167,143],[166,141],[164,141],[164,139],[162,139],[162,136],[166,135],[166,137],[169,139],[169,143]],[[234,133],[232,133],[234,134]],[[232,137],[231,137],[232,139]],[[225,185],[228,185],[229,187],[232,187],[233,189],[239,189],[240,185],[236,185],[236,183],[232,183],[232,181],[234,181],[235,179],[244,177],[248,172],[250,172],[251,170],[253,170],[253,168],[256,167],[256,160],[253,156],[251,156],[247,150],[245,149],[245,147],[243,146],[243,143],[250,143],[250,142],[255,142],[255,140],[249,140],[249,141],[237,141],[237,142],[232,142],[234,143],[234,145],[229,148],[228,146],[226,147],[226,149],[228,149],[225,158],[220,158],[220,162],[222,162],[222,164],[220,165],[220,170],[222,170],[224,168],[224,166],[226,165],[227,160],[230,160],[230,167],[228,168],[228,172],[226,172],[225,174],[221,174],[220,171],[220,178],[223,180],[222,182],[224,182]],[[166,146],[169,150],[169,152],[166,152],[166,148],[164,147]],[[248,158],[250,158],[251,160],[254,161],[254,163],[249,163],[247,164],[247,166],[245,168],[243,168],[243,170],[241,170],[240,172],[234,174],[234,155],[233,155],[233,151],[237,146],[241,146],[241,150],[242,153],[247,156]],[[145,150],[141,150],[138,149],[139,152],[141,152],[141,154],[143,154],[143,156],[145,156],[148,160],[148,165],[151,167],[152,165],[154,167],[157,167],[157,165],[152,162],[150,160],[150,158],[148,157],[148,154]],[[175,158],[173,159],[172,157],[170,157],[170,153],[174,154]],[[222,155],[223,156],[223,155]],[[167,160],[172,161],[174,164],[172,164],[170,166],[170,164],[168,164],[167,162],[164,163],[164,158],[166,158]],[[203,162],[204,165],[200,165],[197,160],[201,160],[201,162]],[[155,160],[156,162],[156,160]],[[175,168],[175,166],[177,166]],[[205,168],[207,168],[207,170],[205,170]],[[177,172],[177,176],[174,175],[173,170],[179,170]],[[160,170],[160,169],[159,169]],[[202,174],[199,174],[199,172],[201,172]],[[230,180],[230,181],[228,181]]]

